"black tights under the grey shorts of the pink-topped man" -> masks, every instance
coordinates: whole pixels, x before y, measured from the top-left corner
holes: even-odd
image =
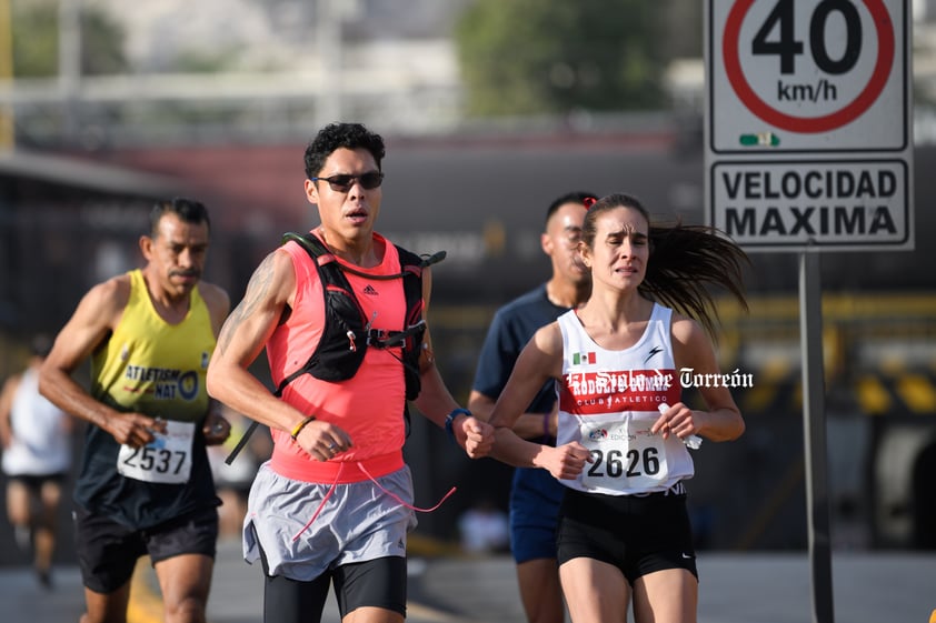
[[[262,547],[260,562],[265,577],[266,623],[319,621],[332,582],[341,620],[365,606],[382,607],[406,617],[407,571],[402,556],[342,564],[308,582],[283,575],[270,576]]]

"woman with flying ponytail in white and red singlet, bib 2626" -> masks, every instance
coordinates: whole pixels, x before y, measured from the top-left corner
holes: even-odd
[[[681,402],[679,381],[686,371],[719,374],[706,284],[745,304],[746,257],[709,228],[650,225],[626,194],[594,203],[581,238],[591,297],[524,349],[490,419],[490,455],[548,470],[567,488],[557,543],[574,623],[625,622],[630,603],[638,623],[694,623],[687,445],[697,448],[697,435],[737,439],[745,424],[725,383],[697,388],[707,408],[699,411]],[[548,379],[557,380],[556,448],[511,430]],[[466,450],[484,455],[471,442]]]

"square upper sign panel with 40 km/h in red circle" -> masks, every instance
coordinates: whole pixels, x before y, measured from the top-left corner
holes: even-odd
[[[906,147],[907,10],[904,0],[713,1],[713,150]]]

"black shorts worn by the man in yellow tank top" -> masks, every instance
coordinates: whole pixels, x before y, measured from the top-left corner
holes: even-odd
[[[137,560],[156,564],[181,554],[215,559],[218,510],[205,509],[145,530],[132,530],[104,515],[74,511],[74,549],[84,586],[112,593],[130,581]]]

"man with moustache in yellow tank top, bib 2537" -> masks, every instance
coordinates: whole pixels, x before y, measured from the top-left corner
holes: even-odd
[[[156,204],[142,269],[91,288],[56,339],[41,393],[88,422],[76,482],[82,623],[126,621],[137,559],[149,555],[167,623],[203,623],[218,536],[206,453],[230,433],[206,390],[230,310],[201,281],[210,223],[188,199]],[[74,371],[91,361],[91,389]]]

